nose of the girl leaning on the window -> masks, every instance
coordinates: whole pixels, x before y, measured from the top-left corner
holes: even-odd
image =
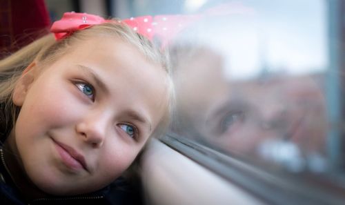
[[[83,117],[77,124],[76,131],[83,141],[90,144],[93,148],[99,148],[103,145],[103,141],[106,138],[107,127],[108,119],[106,115],[93,113]]]

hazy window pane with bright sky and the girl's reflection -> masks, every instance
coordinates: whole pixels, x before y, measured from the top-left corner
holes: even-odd
[[[172,132],[292,173],[334,170],[327,9],[322,0],[210,8],[217,14],[169,46],[177,92]]]

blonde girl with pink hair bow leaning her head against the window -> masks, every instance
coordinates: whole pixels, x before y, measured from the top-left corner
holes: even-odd
[[[118,204],[108,185],[167,124],[164,55],[94,15],[52,31],[0,61],[1,204]]]

